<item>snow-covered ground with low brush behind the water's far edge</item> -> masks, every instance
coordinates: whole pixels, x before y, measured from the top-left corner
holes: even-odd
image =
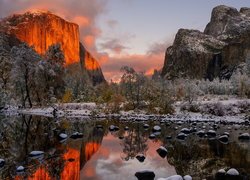
[[[9,108],[5,111],[7,114],[31,114],[48,117],[95,117],[95,118],[119,118],[120,120],[129,121],[147,121],[147,120],[161,120],[161,121],[227,121],[227,122],[245,122],[247,115],[250,113],[250,99],[237,98],[222,98],[214,97],[209,100],[200,98],[197,102],[198,112],[190,112],[183,110],[185,105],[183,102],[175,103],[175,113],[172,115],[156,115],[147,114],[145,111],[121,111],[119,114],[104,114],[102,109],[95,103],[65,103],[56,104],[54,107],[47,108],[30,108],[17,109]],[[219,104],[219,105],[218,105]],[[230,108],[229,108],[230,107]],[[242,109],[243,108],[243,109]],[[56,110],[55,110],[56,109]],[[222,115],[210,113],[212,110],[222,111]],[[232,111],[232,112],[227,112]]]

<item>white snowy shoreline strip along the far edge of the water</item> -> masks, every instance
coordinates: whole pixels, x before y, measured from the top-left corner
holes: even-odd
[[[105,114],[99,111],[98,106],[95,103],[67,103],[57,104],[56,114],[54,114],[55,107],[44,107],[44,108],[30,108],[30,109],[18,109],[10,107],[3,111],[3,115],[37,115],[45,117],[66,117],[66,118],[81,118],[81,119],[119,119],[122,121],[148,121],[148,120],[159,120],[159,121],[209,121],[209,122],[232,122],[232,123],[244,123],[247,120],[247,113],[241,113],[240,106],[244,103],[249,112],[250,99],[229,99],[223,101],[200,101],[199,106],[202,105],[215,105],[220,103],[223,108],[232,106],[235,111],[234,115],[223,115],[216,116],[212,114],[205,114],[200,112],[188,112],[181,111],[180,108],[183,105],[181,102],[175,103],[176,112],[172,115],[159,115],[159,114],[147,114],[144,111],[121,111],[119,114]],[[194,103],[195,104],[195,103]],[[231,109],[230,109],[231,111]]]

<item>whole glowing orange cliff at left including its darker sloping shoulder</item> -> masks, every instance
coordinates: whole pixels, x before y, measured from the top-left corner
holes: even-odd
[[[41,55],[52,44],[61,44],[66,66],[81,63],[81,68],[93,84],[104,82],[101,67],[97,60],[80,43],[79,26],[61,17],[44,11],[14,14],[4,18],[1,31],[26,42]]]

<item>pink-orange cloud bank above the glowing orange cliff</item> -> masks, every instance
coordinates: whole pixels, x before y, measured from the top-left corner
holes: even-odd
[[[95,41],[101,34],[96,26],[98,16],[106,12],[107,0],[0,0],[0,17],[28,10],[49,10],[80,26],[81,41],[96,51]]]

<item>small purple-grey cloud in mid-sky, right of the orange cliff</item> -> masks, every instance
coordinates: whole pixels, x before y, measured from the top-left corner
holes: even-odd
[[[109,50],[116,54],[120,54],[123,50],[128,49],[128,47],[122,45],[120,39],[116,38],[108,39],[107,41],[100,43],[100,47],[104,50]]]

